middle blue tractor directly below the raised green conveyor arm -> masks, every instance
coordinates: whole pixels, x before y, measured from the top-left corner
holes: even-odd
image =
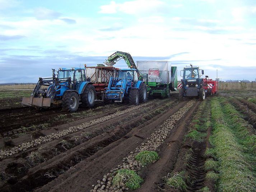
[[[104,93],[104,100],[123,102],[128,99],[130,104],[138,105],[147,98],[146,84],[140,80],[138,69],[121,69],[117,78],[111,77]]]

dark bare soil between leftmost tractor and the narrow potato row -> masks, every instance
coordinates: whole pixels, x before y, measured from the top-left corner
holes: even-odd
[[[99,105],[99,104],[98,104]],[[87,116],[115,112],[117,109],[126,108],[124,105],[109,105],[101,108],[94,108]],[[79,108],[76,113],[88,111],[85,108]],[[60,115],[65,115],[62,118]],[[33,107],[18,107],[0,110],[0,134],[2,136],[13,136],[23,132],[41,129],[39,127],[46,126],[46,129],[52,126],[62,125],[70,120],[81,119],[72,113],[63,112],[60,107],[52,107],[49,109],[39,110]],[[82,115],[81,115],[82,116]],[[24,128],[25,127],[25,128]]]

